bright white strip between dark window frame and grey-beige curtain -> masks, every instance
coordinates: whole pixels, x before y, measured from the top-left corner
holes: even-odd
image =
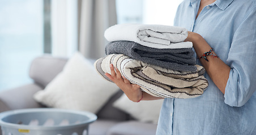
[[[50,1],[52,55],[71,56],[78,49],[78,1]]]

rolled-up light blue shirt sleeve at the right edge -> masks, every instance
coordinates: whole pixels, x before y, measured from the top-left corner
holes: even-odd
[[[225,87],[225,104],[243,106],[256,91],[256,12],[245,16],[236,30],[227,64],[231,67]]]

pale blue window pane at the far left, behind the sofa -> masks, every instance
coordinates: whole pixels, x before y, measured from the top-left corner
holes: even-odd
[[[0,91],[21,86],[43,53],[42,0],[0,0]]]

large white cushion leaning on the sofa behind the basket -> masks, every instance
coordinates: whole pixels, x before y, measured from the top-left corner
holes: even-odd
[[[93,64],[77,52],[67,61],[63,71],[34,98],[48,107],[97,113],[117,91],[116,84],[102,79]]]

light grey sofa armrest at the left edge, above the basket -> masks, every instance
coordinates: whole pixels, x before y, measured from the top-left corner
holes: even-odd
[[[0,113],[7,110],[42,107],[33,95],[42,88],[37,84],[7,89],[0,92]]]

